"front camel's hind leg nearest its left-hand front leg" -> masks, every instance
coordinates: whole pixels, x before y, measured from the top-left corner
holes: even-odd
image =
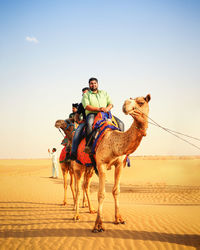
[[[89,211],[91,214],[96,213],[96,211],[94,210],[91,201],[90,201],[90,183],[91,183],[91,179],[92,176],[94,174],[94,168],[93,167],[87,167],[86,171],[85,171],[85,175],[84,175],[84,185],[83,185],[83,192],[86,193],[87,196],[87,200],[88,200],[88,207],[89,207]]]

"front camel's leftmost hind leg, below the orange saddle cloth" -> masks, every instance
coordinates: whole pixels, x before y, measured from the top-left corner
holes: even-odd
[[[81,178],[83,173],[85,172],[85,166],[80,165],[78,163],[74,163],[73,165],[74,176],[75,176],[75,183],[76,183],[76,212],[74,215],[74,220],[79,220],[79,202],[80,202],[80,189],[81,189]]]

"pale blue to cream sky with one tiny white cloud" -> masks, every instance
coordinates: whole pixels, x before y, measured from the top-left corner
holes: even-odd
[[[54,123],[92,76],[126,129],[124,100],[150,93],[153,120],[200,138],[200,1],[1,0],[0,158],[60,151]],[[134,155],[199,153],[149,125]]]

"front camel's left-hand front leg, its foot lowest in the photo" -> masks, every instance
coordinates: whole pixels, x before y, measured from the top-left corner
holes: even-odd
[[[100,165],[100,167],[98,167],[98,172],[99,172],[98,211],[97,211],[97,218],[95,221],[95,225],[92,230],[93,233],[105,231],[102,222],[102,216],[103,216],[102,209],[103,209],[103,201],[105,198],[105,181],[106,181],[105,171],[106,171],[105,165]]]

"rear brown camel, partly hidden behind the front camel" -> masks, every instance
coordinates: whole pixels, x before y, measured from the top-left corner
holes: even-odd
[[[67,151],[71,150],[72,146],[72,140],[74,136],[75,129],[77,128],[78,124],[74,122],[73,119],[67,119],[67,120],[57,120],[55,123],[56,128],[61,128],[62,131],[65,133],[66,138],[67,138],[67,144],[66,144],[66,149]],[[70,174],[70,188],[72,191],[72,196],[74,200],[74,209],[75,209],[75,191],[74,191],[74,171],[73,171],[73,164],[74,162],[71,160],[67,160],[65,162],[60,163],[62,174],[63,174],[63,179],[64,179],[64,200],[63,200],[63,205],[67,204],[67,174],[69,172]],[[87,171],[85,173],[84,181],[83,181],[83,202],[82,202],[82,207],[86,207],[86,199],[85,199],[85,191],[84,191],[84,183],[87,182],[87,175],[90,175],[91,171]]]

